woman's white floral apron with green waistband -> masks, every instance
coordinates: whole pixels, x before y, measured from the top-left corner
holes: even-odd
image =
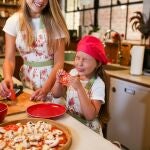
[[[38,21],[41,24],[40,18]],[[23,32],[18,32],[16,37],[17,49],[24,60],[24,64],[20,69],[20,79],[25,87],[32,90],[42,87],[47,81],[54,60],[53,50],[47,48],[44,26],[40,25],[34,33],[35,41],[32,47],[26,46]]]

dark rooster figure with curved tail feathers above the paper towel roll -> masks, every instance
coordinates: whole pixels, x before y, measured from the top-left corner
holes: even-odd
[[[145,14],[140,11],[134,13],[135,15],[130,18],[130,22],[132,22],[132,30],[138,30],[141,32],[142,43],[146,44],[146,40],[149,39],[150,45],[150,14],[147,18]]]

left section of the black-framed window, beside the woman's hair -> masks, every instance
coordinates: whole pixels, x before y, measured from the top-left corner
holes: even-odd
[[[78,30],[79,26],[93,24],[94,0],[66,0],[66,23],[68,29]]]

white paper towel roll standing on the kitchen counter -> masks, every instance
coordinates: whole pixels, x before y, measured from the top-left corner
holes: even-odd
[[[131,48],[131,67],[130,73],[132,75],[141,75],[143,73],[145,46],[133,46]]]

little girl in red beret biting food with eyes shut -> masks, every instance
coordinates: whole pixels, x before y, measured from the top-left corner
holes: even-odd
[[[75,68],[70,72],[78,74],[66,75],[64,70],[59,70],[52,89],[53,96],[60,97],[64,84],[67,85],[66,106],[70,114],[101,135],[101,123],[108,121],[102,70],[102,65],[106,63],[102,42],[96,37],[85,36],[77,45]]]

